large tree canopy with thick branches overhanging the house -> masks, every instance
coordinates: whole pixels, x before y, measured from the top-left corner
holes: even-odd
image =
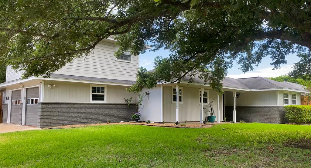
[[[121,46],[117,57],[144,53],[146,43],[172,52],[156,58],[154,72],[140,69],[133,91],[187,75],[221,92],[234,60],[247,72],[269,55],[280,68],[295,52],[301,60],[290,75],[311,73],[309,1],[10,0],[0,7],[0,58],[23,77],[48,76],[110,36]]]

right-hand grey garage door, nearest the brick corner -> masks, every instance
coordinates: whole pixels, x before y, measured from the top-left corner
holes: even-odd
[[[37,126],[38,124],[39,87],[27,88],[26,90],[26,125]]]

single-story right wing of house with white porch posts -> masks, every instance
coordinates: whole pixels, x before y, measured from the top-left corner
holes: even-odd
[[[210,115],[204,108],[214,99],[218,123],[225,117],[234,122],[286,123],[283,106],[301,105],[301,94],[308,93],[302,85],[264,77],[225,77],[222,95],[204,85],[201,79],[196,78],[190,84],[188,81],[189,77],[185,77],[180,83],[159,83],[153,89],[145,88],[142,93],[149,94],[142,102],[142,120],[202,123]]]

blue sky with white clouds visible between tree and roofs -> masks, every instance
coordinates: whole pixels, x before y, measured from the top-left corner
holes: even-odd
[[[140,55],[139,57],[139,66],[146,68],[147,70],[153,69],[154,59],[156,56],[160,55],[163,58],[167,57],[170,54],[169,51],[161,49],[159,51],[153,52],[147,50],[146,53]],[[273,66],[270,65],[272,62],[270,56],[266,56],[262,59],[262,62],[258,65],[258,67],[254,66],[254,70],[243,73],[239,67],[240,65],[234,62],[232,69],[228,70],[227,77],[232,78],[245,78],[245,77],[277,77],[281,75],[285,75],[292,70],[292,66],[295,62],[299,61],[299,58],[296,54],[286,55],[287,64],[282,64],[281,69],[273,70]]]

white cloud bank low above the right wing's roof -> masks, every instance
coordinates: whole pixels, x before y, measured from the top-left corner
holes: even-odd
[[[245,78],[245,77],[278,77],[281,75],[286,75],[292,70],[293,65],[281,66],[281,69],[272,70],[273,67],[257,69],[252,72],[240,73],[238,75],[228,75],[231,78]]]

